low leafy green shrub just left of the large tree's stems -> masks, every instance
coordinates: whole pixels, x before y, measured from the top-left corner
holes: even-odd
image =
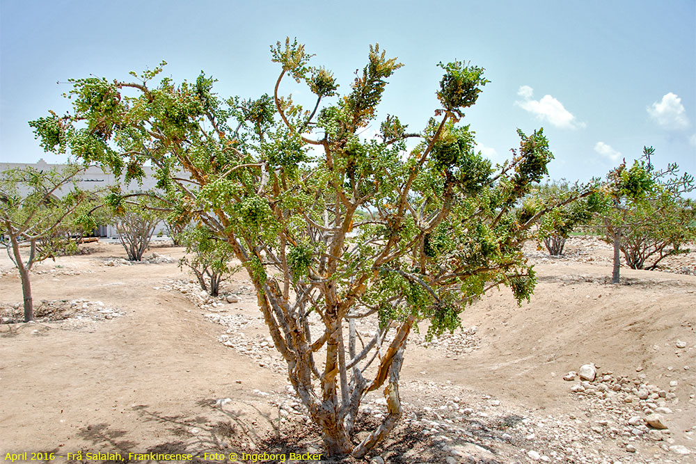
[[[218,296],[220,284],[232,273],[230,260],[235,257],[235,252],[230,243],[219,239],[203,225],[184,229],[177,238],[187,251],[179,266],[187,266],[193,271],[201,290]]]

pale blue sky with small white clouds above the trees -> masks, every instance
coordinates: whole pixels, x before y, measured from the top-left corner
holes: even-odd
[[[42,152],[27,121],[67,110],[71,77],[128,79],[166,60],[177,82],[204,70],[220,95],[258,97],[278,76],[269,45],[288,35],[344,92],[370,44],[404,63],[367,134],[388,113],[422,129],[438,107],[436,64],[457,58],[491,81],[463,122],[494,161],[519,143],[516,128],[544,127],[554,179],[603,176],[643,145],[656,165],[696,174],[694,0],[0,0],[0,161],[63,161]],[[293,81],[283,90],[312,102]]]

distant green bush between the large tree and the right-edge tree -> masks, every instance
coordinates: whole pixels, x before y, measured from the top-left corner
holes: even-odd
[[[594,184],[594,182],[593,182]],[[536,195],[544,205],[551,205],[586,191],[589,186],[569,186],[567,182],[553,182],[541,186]],[[578,225],[584,225],[592,220],[594,213],[603,208],[597,194],[578,200],[549,211],[539,221],[539,238],[551,256],[563,254],[565,242]]]

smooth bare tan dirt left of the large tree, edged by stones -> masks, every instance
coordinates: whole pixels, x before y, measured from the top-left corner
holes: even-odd
[[[182,431],[229,419],[209,407],[225,397],[235,398],[227,408],[236,411],[235,421],[253,427],[268,405],[248,393],[283,385],[280,376],[219,344],[214,324],[185,298],[152,288],[180,274],[175,264],[100,266],[106,255],[58,259],[86,259],[94,272],[38,275],[33,292],[47,300],[102,301],[123,317],[87,330],[27,324],[10,336],[2,328],[2,454],[63,445],[139,452],[184,445],[191,434]],[[0,280],[3,300],[18,301],[18,289],[13,276]]]

